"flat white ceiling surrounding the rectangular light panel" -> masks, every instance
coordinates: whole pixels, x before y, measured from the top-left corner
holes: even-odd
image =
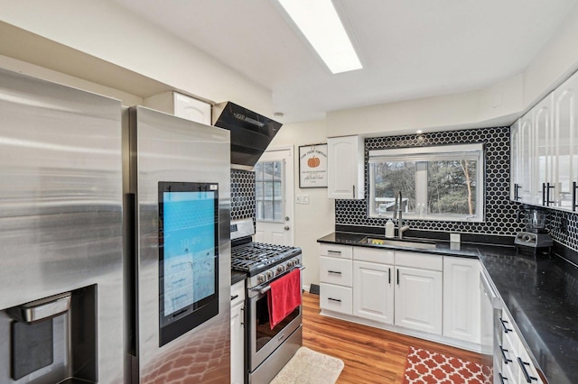
[[[114,1],[271,89],[282,123],[510,78],[578,3],[334,0],[364,69],[331,75],[275,0]]]

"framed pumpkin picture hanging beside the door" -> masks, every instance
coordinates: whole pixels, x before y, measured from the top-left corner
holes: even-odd
[[[327,187],[327,144],[299,147],[299,187]]]

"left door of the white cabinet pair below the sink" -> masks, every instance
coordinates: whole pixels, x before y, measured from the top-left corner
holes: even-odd
[[[353,315],[394,324],[393,265],[353,261]]]

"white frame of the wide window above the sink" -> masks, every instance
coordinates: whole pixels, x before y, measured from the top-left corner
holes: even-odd
[[[391,218],[392,213],[376,212],[375,182],[372,164],[382,161],[415,161],[415,204],[426,204],[427,201],[427,166],[425,161],[431,160],[477,160],[476,167],[476,214],[462,217],[443,215],[416,215],[404,213],[408,220],[425,220],[441,222],[485,223],[486,221],[486,151],[484,143],[432,145],[427,147],[393,148],[368,151],[368,217]]]

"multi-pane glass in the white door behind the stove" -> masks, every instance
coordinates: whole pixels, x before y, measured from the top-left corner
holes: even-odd
[[[260,161],[255,166],[256,219],[283,221],[283,160]]]

